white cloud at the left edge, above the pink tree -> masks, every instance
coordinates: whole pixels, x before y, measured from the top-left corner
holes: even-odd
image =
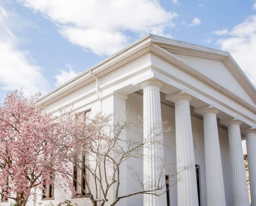
[[[20,19],[16,13],[0,6],[0,89],[9,92],[23,88],[26,96],[31,92],[44,94],[50,88],[40,73],[41,68],[33,63],[27,51],[19,49],[20,38],[13,33],[15,25],[24,26],[24,19]]]

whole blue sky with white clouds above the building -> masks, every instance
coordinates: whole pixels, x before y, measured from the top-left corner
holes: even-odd
[[[226,50],[256,85],[255,0],[0,0],[0,98],[46,94],[147,33]]]

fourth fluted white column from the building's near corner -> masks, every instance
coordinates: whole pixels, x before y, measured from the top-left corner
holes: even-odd
[[[234,206],[249,206],[240,121],[228,123]]]

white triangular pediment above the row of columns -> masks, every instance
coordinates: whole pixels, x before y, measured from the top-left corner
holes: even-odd
[[[256,89],[228,52],[154,35],[152,43],[153,50],[158,50],[165,60],[256,108]]]

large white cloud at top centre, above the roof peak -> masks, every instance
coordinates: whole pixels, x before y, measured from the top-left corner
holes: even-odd
[[[174,0],[176,2],[177,0]],[[97,55],[110,55],[131,41],[129,33],[165,35],[173,27],[174,12],[165,11],[157,0],[20,0],[54,22],[72,44]]]

